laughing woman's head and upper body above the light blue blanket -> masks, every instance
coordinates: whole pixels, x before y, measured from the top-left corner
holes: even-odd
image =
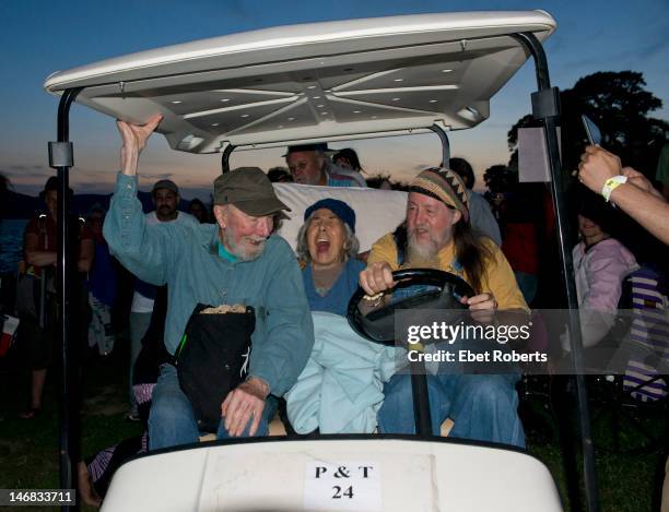
[[[297,253],[305,263],[304,289],[312,311],[347,314],[365,264],[355,259],[355,212],[343,201],[322,199],[304,213],[297,234]]]

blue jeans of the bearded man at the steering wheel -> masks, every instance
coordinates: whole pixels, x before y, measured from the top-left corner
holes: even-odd
[[[446,418],[455,422],[449,437],[525,448],[518,417],[516,374],[427,376],[432,431],[438,436]],[[378,426],[384,433],[415,433],[411,376],[396,374],[384,386]]]

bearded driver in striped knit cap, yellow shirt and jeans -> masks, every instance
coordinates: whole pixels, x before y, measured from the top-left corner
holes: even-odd
[[[372,247],[360,284],[374,296],[395,287],[392,271],[411,267],[437,269],[463,278],[474,290],[461,299],[470,310],[528,309],[500,248],[489,238],[476,238],[467,189],[450,169],[427,169],[411,182],[406,222]],[[498,374],[429,376],[433,432],[524,445],[516,380]],[[394,376],[384,395],[380,430],[413,432],[410,376]]]

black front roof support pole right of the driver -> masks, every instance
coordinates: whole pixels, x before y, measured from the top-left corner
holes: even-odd
[[[578,419],[580,424],[580,437],[583,448],[583,465],[585,476],[586,499],[588,510],[599,510],[599,497],[597,490],[597,474],[595,471],[595,450],[590,432],[590,416],[588,409],[588,395],[585,386],[583,371],[583,341],[580,337],[580,321],[578,318],[578,301],[576,298],[576,285],[574,283],[574,263],[572,252],[567,250],[567,243],[572,240],[570,235],[570,223],[564,198],[562,182],[562,167],[558,146],[556,121],[560,116],[560,94],[556,87],[551,88],[548,63],[541,43],[531,33],[515,34],[514,37],[535,58],[537,71],[538,92],[532,94],[532,115],[540,119],[544,127],[545,147],[552,178],[552,195],[558,219],[558,236],[560,241],[560,259],[562,263],[562,275],[566,288],[567,305],[570,308],[568,334],[572,341],[572,360],[574,373],[576,374],[576,394],[578,404]]]

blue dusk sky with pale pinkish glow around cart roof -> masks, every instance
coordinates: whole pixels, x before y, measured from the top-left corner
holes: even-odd
[[[60,70],[102,59],[193,39],[275,25],[430,12],[543,9],[558,29],[545,44],[551,80],[568,88],[597,71],[643,73],[647,90],[664,102],[654,117],[669,120],[669,0],[631,1],[448,1],[367,0],[300,2],[280,0],[37,1],[0,0],[2,95],[0,172],[17,192],[36,194],[54,174],[47,165],[47,141],[56,139],[58,98],[44,92],[46,78]],[[506,133],[529,114],[535,91],[533,66],[526,64],[491,103],[491,117],[478,128],[451,135],[454,156],[468,158],[477,175],[505,164]],[[119,138],[113,119],[75,105],[70,139],[77,193],[108,193],[118,169]],[[337,143],[357,150],[371,174],[397,179],[416,174],[439,159],[436,135]],[[233,167],[282,165],[282,150],[233,154]],[[141,188],[169,177],[183,197],[207,200],[220,172],[219,155],[191,155],[169,150],[154,136],[140,163]],[[480,180],[482,181],[482,180]]]

